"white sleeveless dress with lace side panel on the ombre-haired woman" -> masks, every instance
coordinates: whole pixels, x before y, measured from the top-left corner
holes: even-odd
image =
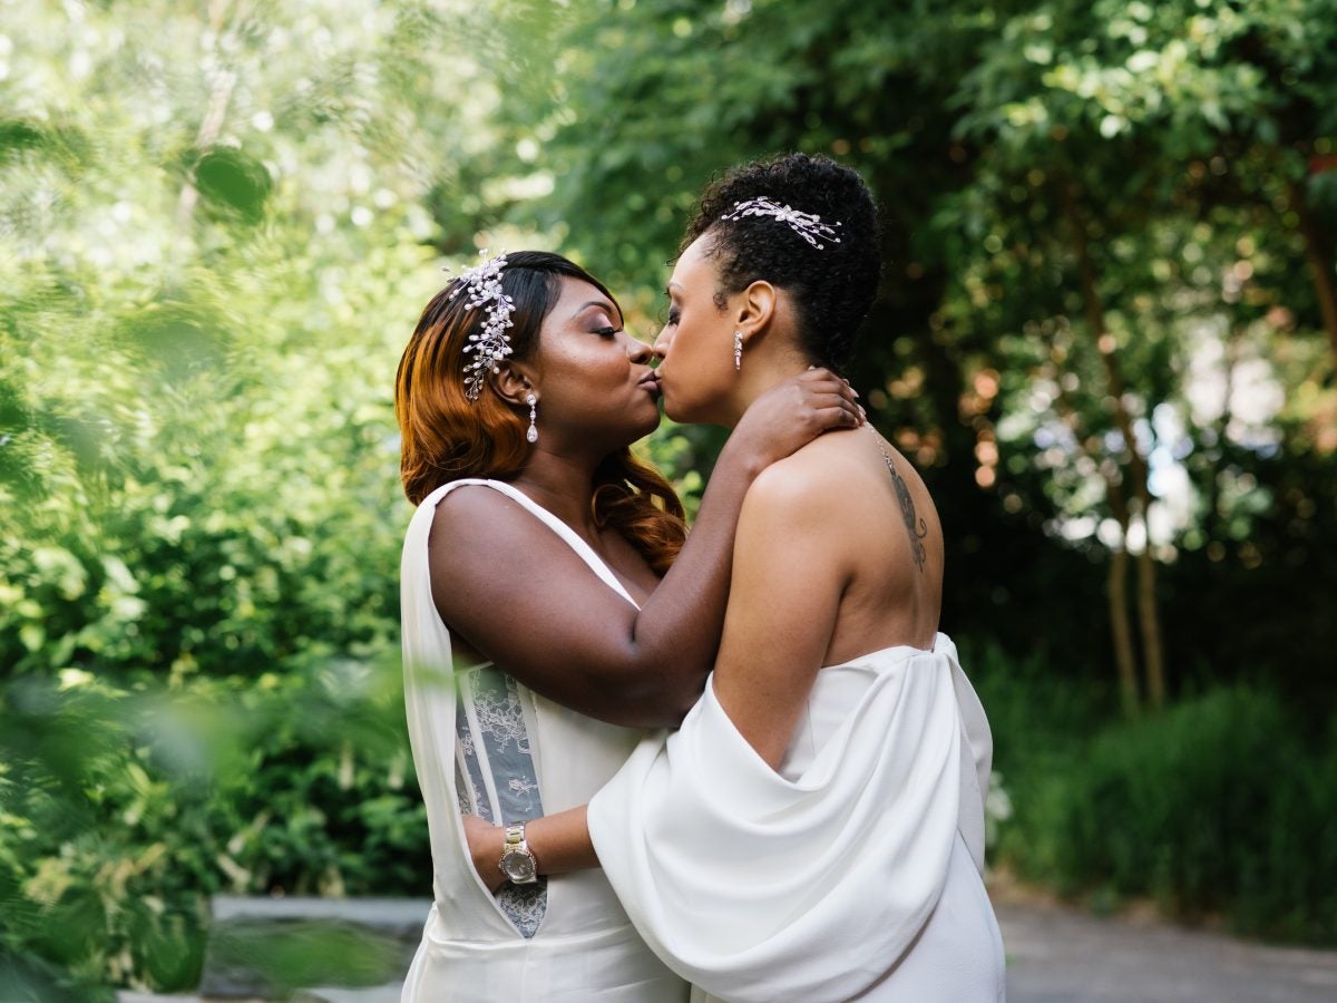
[[[491,663],[452,674],[451,633],[432,600],[428,536],[437,503],[464,484],[487,485],[521,504],[635,604],[584,540],[509,484],[452,481],[414,512],[404,542],[400,602],[405,703],[428,813],[433,905],[402,999],[683,1003],[689,987],[646,947],[602,871],[507,887],[497,897],[473,871],[461,810],[509,824],[583,805],[644,733],[559,706]]]

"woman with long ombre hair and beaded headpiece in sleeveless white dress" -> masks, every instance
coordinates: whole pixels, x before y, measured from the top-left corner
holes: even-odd
[[[556,254],[487,259],[427,306],[400,362],[405,699],[433,907],[405,1000],[685,1000],[562,817],[644,729],[701,694],[749,485],[856,425],[844,381],[761,397],[719,455],[691,535],[630,445],[658,425],[647,345]],[[465,829],[503,828],[480,880]]]

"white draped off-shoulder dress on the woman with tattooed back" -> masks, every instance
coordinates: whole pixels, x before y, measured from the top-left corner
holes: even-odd
[[[943,634],[818,671],[781,770],[713,679],[590,804],[599,860],[694,1002],[993,1003],[992,738]]]

